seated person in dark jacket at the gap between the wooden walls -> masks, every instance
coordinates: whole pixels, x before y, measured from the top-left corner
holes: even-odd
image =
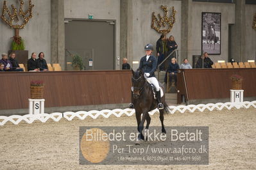
[[[175,86],[177,86],[177,72],[180,67],[176,63],[176,58],[171,59],[171,63],[166,71],[166,77],[164,77],[164,82],[167,83],[167,76],[169,76],[169,81],[171,82],[173,78],[175,79]]]

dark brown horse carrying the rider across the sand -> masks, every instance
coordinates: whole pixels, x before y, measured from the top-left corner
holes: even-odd
[[[133,95],[132,102],[133,108],[135,109],[135,116],[137,120],[137,130],[139,135],[137,137],[137,142],[135,144],[140,144],[141,141],[145,140],[144,135],[142,134],[142,130],[144,128],[144,122],[146,123],[145,134],[148,132],[149,124],[151,118],[149,116],[149,111],[157,108],[157,100],[154,98],[153,88],[151,84],[144,77],[144,73],[142,70],[137,70],[134,72],[132,70],[132,86],[133,86]],[[162,85],[160,86],[164,92],[164,88]],[[162,125],[162,133],[166,134],[166,129],[164,128],[164,114],[170,113],[170,109],[165,102],[165,96],[161,98],[162,104],[164,105],[164,109],[160,109],[160,121]],[[142,118],[141,118],[142,114]]]

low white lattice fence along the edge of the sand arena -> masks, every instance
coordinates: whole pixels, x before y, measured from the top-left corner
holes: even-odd
[[[216,109],[217,111],[221,111],[222,109],[241,109],[249,107],[256,108],[256,101],[253,102],[238,102],[238,103],[231,103],[226,102],[223,103],[217,103],[217,104],[198,104],[198,105],[178,105],[178,106],[169,106],[169,109],[171,110],[171,114],[174,114],[175,112],[194,112],[194,111],[200,111],[203,112],[205,110],[214,111]],[[155,109],[151,112],[149,112],[150,115],[155,114],[158,112],[158,109]],[[79,118],[80,120],[85,120],[88,116],[90,116],[93,119],[98,118],[99,116],[103,116],[104,118],[109,118],[110,116],[114,115],[117,118],[121,117],[123,114],[126,114],[126,116],[132,116],[135,113],[134,109],[114,109],[114,110],[102,110],[102,111],[78,111],[78,112],[54,112],[51,114],[26,114],[24,116],[19,115],[12,115],[12,116],[0,116],[0,126],[3,126],[6,122],[10,121],[15,125],[18,125],[21,121],[26,121],[26,123],[33,123],[33,121],[41,121],[42,123],[45,123],[47,120],[52,119],[53,121],[60,121],[62,118],[65,118],[66,120],[73,120],[74,118]]]

